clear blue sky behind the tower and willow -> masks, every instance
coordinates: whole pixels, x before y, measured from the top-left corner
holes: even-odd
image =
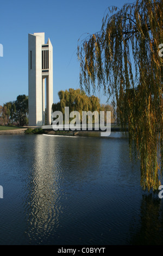
[[[28,95],[28,33],[45,32],[53,45],[53,101],[59,90],[79,88],[78,39],[100,31],[106,8],[128,0],[0,0],[0,105]],[[83,36],[84,38],[84,36]],[[107,98],[97,94],[101,103]]]

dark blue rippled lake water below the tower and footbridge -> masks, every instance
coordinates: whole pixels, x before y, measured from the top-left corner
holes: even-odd
[[[1,245],[163,244],[163,199],[125,135],[1,135],[0,168]]]

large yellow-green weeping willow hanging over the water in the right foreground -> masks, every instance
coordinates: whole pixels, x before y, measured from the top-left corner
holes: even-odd
[[[136,1],[112,7],[101,31],[79,40],[80,87],[103,88],[128,126],[130,154],[141,162],[141,186],[158,189],[163,163],[163,4]]]

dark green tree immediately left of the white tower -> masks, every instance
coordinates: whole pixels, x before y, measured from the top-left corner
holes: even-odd
[[[18,95],[15,101],[15,120],[19,126],[28,125],[28,96]]]

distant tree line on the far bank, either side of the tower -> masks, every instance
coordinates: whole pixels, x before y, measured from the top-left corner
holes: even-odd
[[[94,95],[87,96],[83,90],[71,88],[65,91],[60,90],[58,96],[60,101],[53,103],[53,112],[61,111],[64,114],[65,107],[69,107],[70,112],[78,111],[82,118],[82,111],[104,111],[106,123],[106,111],[111,111],[111,121],[112,123],[115,121],[114,111],[111,105],[101,105],[98,97]],[[0,106],[0,125],[28,125],[28,96],[24,94],[18,95],[15,101],[9,101],[4,103],[3,106]]]

